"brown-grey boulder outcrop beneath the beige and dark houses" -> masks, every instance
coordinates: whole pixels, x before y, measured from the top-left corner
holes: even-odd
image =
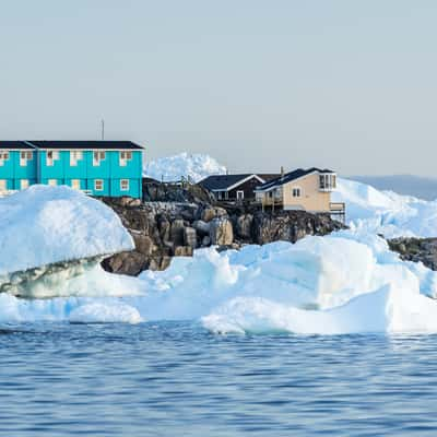
[[[184,193],[172,196],[185,200]],[[135,249],[107,258],[102,265],[109,272],[138,275],[144,270],[165,270],[173,257],[192,256],[198,248],[217,246],[224,250],[277,240],[295,243],[306,235],[327,235],[344,227],[329,214],[271,213],[249,205],[215,205],[206,199],[194,196],[180,202],[141,202],[103,198],[132,235]]]

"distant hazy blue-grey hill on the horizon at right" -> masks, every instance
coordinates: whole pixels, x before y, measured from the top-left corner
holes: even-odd
[[[414,196],[416,198],[437,199],[437,179],[413,175],[393,176],[350,176],[347,179],[368,184],[378,190],[391,190],[399,194]]]

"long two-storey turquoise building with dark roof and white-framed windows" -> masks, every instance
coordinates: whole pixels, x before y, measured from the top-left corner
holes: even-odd
[[[141,199],[143,152],[130,141],[0,141],[0,192],[45,184]]]

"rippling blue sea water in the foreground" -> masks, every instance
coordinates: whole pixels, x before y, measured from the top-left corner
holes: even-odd
[[[437,335],[3,328],[1,436],[437,435]]]

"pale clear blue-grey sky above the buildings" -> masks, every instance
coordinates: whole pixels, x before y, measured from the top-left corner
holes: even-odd
[[[437,1],[0,0],[1,139],[437,176]]]

